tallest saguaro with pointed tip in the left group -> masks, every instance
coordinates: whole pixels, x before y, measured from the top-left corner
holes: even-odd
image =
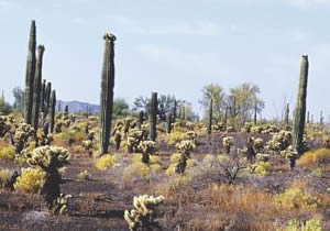
[[[33,85],[34,85],[35,59],[36,59],[35,58],[35,46],[36,46],[35,31],[36,31],[35,21],[33,20],[30,30],[26,75],[25,75],[24,120],[25,123],[28,124],[32,124]]]

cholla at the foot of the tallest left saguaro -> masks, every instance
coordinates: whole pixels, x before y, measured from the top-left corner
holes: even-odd
[[[13,144],[16,154],[20,154],[26,146],[29,138],[34,135],[34,129],[28,123],[21,123],[13,135]]]

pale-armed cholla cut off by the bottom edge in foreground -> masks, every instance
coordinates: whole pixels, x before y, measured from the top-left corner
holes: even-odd
[[[131,231],[146,231],[153,227],[158,227],[154,218],[154,208],[162,204],[165,197],[139,196],[133,198],[133,206],[131,212],[125,210],[124,219],[128,221]]]

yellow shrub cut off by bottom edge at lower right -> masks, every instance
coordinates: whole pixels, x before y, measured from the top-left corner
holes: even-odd
[[[298,219],[288,220],[284,231],[321,231],[321,220],[319,218],[312,218],[306,222],[301,222]]]

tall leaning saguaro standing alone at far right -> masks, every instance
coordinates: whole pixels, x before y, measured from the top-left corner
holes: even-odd
[[[305,129],[305,117],[306,117],[306,98],[307,98],[307,82],[308,82],[308,56],[301,56],[300,64],[300,80],[299,89],[297,96],[297,103],[294,117],[294,128],[293,128],[293,147],[300,156],[304,152],[302,150],[302,139]]]

